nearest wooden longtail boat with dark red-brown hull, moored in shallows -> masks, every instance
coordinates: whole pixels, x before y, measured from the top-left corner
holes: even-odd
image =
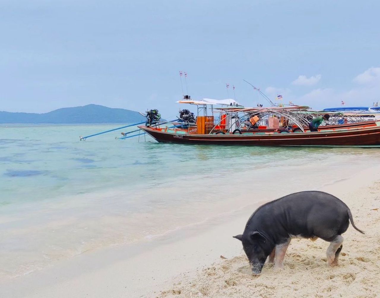
[[[344,125],[325,126],[317,132],[310,132],[305,127],[305,121],[294,116],[290,109],[279,108],[241,108],[220,110],[225,117],[215,124],[213,116],[198,116],[195,125],[187,128],[168,128],[157,126],[139,126],[144,132],[158,142],[210,144],[210,145],[250,145],[250,146],[350,146],[350,147],[380,147],[380,121],[362,123],[347,123]],[[282,117],[298,131],[282,130],[253,131],[249,123],[258,123],[266,117]],[[228,121],[224,121],[228,118]],[[270,121],[269,121],[270,120]],[[238,123],[238,124],[236,124]],[[247,125],[248,123],[248,125]],[[319,128],[318,128],[319,129]],[[238,133],[234,133],[238,131]]]

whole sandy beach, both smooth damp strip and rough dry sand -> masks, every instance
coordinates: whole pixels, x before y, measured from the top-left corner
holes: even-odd
[[[265,265],[260,276],[252,276],[241,243],[232,236],[243,231],[256,204],[142,245],[86,252],[0,281],[0,296],[375,297],[380,293],[379,175],[380,167],[374,167],[315,188],[347,203],[356,225],[366,232],[348,228],[335,268],[326,265],[328,243],[302,239],[291,242],[282,271]]]

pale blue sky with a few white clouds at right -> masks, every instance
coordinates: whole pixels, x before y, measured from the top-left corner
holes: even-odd
[[[380,98],[378,1],[0,0],[0,110],[89,103],[165,117],[195,99],[314,108]],[[300,77],[299,76],[305,76]],[[232,89],[230,97],[233,98]]]

